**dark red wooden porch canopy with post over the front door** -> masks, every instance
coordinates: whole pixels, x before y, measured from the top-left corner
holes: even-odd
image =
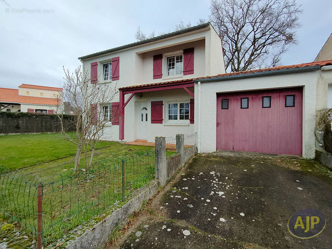
[[[134,86],[119,88],[119,94],[120,94],[119,139],[124,140],[124,107],[128,104],[128,102],[135,95],[135,93],[183,88],[194,98],[194,93],[192,93],[190,90],[188,90],[188,87],[193,87],[193,86],[194,86],[193,79],[186,79],[186,80],[167,81],[167,82],[151,83],[151,84],[144,84],[144,85],[134,85]],[[125,94],[130,94],[130,96],[126,102],[124,102]]]

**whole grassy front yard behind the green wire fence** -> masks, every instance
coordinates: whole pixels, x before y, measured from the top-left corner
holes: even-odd
[[[75,146],[69,141],[60,140],[57,134],[5,135],[0,139],[6,141],[2,143],[5,149],[0,152],[2,164],[12,170],[0,175],[0,226],[14,222],[17,230],[29,238],[35,236],[37,186],[42,182],[44,245],[68,234],[110,206],[120,207],[124,204],[122,159],[125,159],[125,196],[154,179],[155,175],[154,150],[151,146],[102,141],[99,147],[109,146],[96,150],[93,167],[89,171],[82,170],[86,166],[82,156],[79,174],[73,176]],[[54,152],[49,152],[53,149]],[[166,155],[174,153],[167,151]],[[67,157],[59,158],[63,156]],[[27,167],[29,164],[34,165]],[[17,168],[21,169],[14,170]],[[16,241],[15,237],[8,236],[8,239]],[[32,239],[28,241],[32,243]]]

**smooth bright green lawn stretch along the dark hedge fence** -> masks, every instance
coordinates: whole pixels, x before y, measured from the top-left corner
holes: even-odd
[[[69,135],[74,137],[75,133]],[[0,136],[0,144],[0,165],[10,170],[76,153],[76,145],[61,139],[57,133],[3,135]],[[111,144],[110,141],[101,141],[97,147]]]

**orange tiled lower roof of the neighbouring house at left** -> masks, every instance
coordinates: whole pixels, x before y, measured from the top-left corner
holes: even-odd
[[[0,88],[0,102],[51,105],[51,106],[58,105],[57,99],[22,96],[19,95],[18,89],[10,89],[10,88]]]

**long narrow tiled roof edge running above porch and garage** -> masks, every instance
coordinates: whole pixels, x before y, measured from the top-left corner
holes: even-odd
[[[301,67],[310,67],[310,66],[326,66],[326,65],[332,65],[332,60],[315,61],[315,62],[309,62],[309,63],[289,65],[289,66],[276,66],[276,67],[261,68],[261,69],[255,69],[255,70],[249,70],[249,71],[233,72],[233,73],[223,73],[223,74],[217,74],[214,76],[205,76],[205,77],[198,77],[198,78],[192,78],[192,79],[171,80],[171,81],[164,81],[164,82],[158,82],[158,83],[132,85],[132,86],[119,88],[119,90],[132,89],[132,88],[138,88],[138,87],[157,86],[157,85],[171,84],[171,83],[177,83],[177,82],[194,81],[194,80],[217,78],[217,77],[224,77],[224,76],[233,76],[233,75],[240,75],[240,74],[250,74],[250,73],[277,71],[277,70],[291,69],[291,68],[301,68]]]

